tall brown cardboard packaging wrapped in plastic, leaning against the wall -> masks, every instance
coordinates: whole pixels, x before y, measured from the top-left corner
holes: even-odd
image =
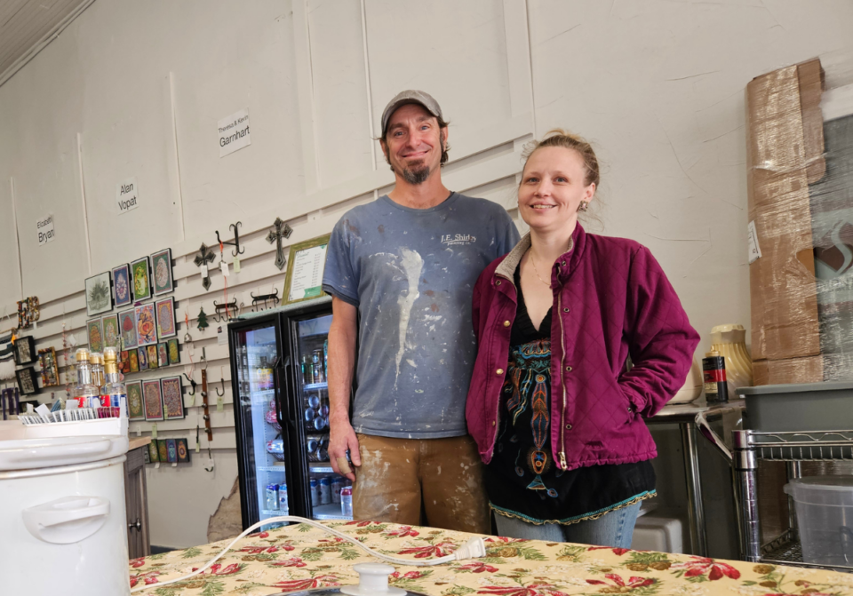
[[[753,361],[820,354],[809,184],[825,171],[822,79],[809,60],[746,86],[749,221],[761,250],[749,266]]]

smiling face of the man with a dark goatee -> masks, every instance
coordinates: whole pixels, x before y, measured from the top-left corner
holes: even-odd
[[[434,115],[419,104],[406,104],[391,115],[381,145],[396,174],[409,184],[421,184],[439,170],[446,141],[447,129],[439,128]]]

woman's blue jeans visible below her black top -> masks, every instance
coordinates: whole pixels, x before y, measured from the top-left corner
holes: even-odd
[[[495,514],[498,534],[510,538],[527,538],[546,542],[574,542],[614,548],[630,548],[634,524],[642,503],[634,503],[605,513],[597,520],[578,521],[568,526],[558,523],[536,525],[514,517]]]

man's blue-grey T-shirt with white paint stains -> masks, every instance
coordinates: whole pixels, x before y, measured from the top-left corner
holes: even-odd
[[[386,195],[340,219],[323,290],[358,308],[356,433],[467,433],[474,283],[518,240],[503,207],[458,193],[430,209],[403,207]]]

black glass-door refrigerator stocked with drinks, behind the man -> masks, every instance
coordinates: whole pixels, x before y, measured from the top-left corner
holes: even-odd
[[[346,495],[341,504],[351,483],[327,450],[330,325],[330,298],[228,325],[243,528],[287,514],[352,520]]]

